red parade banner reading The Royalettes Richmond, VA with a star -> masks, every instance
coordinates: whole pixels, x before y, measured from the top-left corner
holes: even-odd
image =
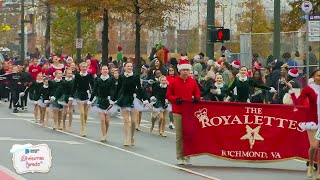
[[[184,102],[186,156],[209,154],[244,161],[308,159],[309,141],[299,122],[306,108],[226,102]]]

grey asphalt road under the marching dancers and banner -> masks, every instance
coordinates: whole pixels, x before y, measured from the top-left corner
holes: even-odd
[[[123,146],[123,120],[112,117],[108,143],[100,143],[100,121],[89,113],[87,137],[79,136],[80,121],[74,118],[71,133],[42,128],[33,122],[29,111],[12,114],[7,103],[0,104],[0,180],[100,180],[100,179],[221,179],[221,180],[303,180],[305,163],[290,160],[277,163],[225,161],[211,156],[193,157],[192,166],[177,166],[175,134],[167,129],[163,138],[148,132],[149,113],[144,113],[136,146]],[[52,120],[51,120],[52,124]],[[52,151],[49,173],[17,175],[9,152],[14,144],[48,144]]]

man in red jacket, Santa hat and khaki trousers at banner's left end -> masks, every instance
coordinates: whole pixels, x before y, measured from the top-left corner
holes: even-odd
[[[180,76],[169,84],[166,97],[172,103],[173,119],[176,129],[176,156],[178,165],[190,164],[190,158],[185,157],[183,153],[182,138],[182,106],[183,101],[200,100],[200,89],[197,82],[189,76],[192,66],[189,61],[181,60],[178,64]]]

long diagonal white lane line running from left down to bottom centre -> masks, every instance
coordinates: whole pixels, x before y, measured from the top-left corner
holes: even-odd
[[[19,119],[19,120],[23,120],[23,121],[26,121],[26,122],[41,126],[40,124],[36,124],[33,120],[27,120],[27,119]],[[51,127],[46,127],[46,128],[47,129],[52,129]],[[203,178],[212,179],[212,180],[220,180],[219,178],[216,178],[216,177],[213,177],[213,176],[208,176],[208,175],[193,171],[191,169],[187,169],[187,168],[183,168],[183,167],[180,167],[180,166],[172,165],[172,164],[166,163],[164,161],[160,161],[160,160],[157,160],[157,159],[154,159],[154,158],[151,158],[151,157],[148,157],[148,156],[145,156],[145,155],[133,152],[133,151],[129,151],[129,150],[117,147],[117,146],[105,144],[105,143],[102,143],[102,142],[99,142],[99,141],[96,141],[96,140],[93,140],[93,139],[89,139],[89,138],[86,138],[86,137],[81,137],[81,136],[76,135],[76,134],[71,134],[71,133],[68,133],[68,132],[60,131],[60,130],[58,130],[58,131],[63,133],[63,134],[67,134],[67,135],[70,135],[70,136],[73,136],[73,137],[76,137],[76,138],[80,138],[80,139],[83,139],[83,140],[86,140],[86,141],[90,141],[92,143],[100,144],[100,145],[103,145],[103,146],[106,146],[106,147],[109,147],[109,148],[112,148],[112,149],[115,149],[115,150],[118,150],[118,151],[122,151],[122,152],[125,152],[125,153],[128,153],[128,154],[134,155],[134,156],[141,157],[143,159],[147,159],[147,160],[150,160],[150,161],[153,161],[153,162],[156,162],[156,163],[171,167],[171,168],[182,170],[182,171],[191,173],[193,175],[201,176]]]

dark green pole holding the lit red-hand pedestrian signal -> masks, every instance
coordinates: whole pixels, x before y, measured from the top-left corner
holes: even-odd
[[[210,42],[211,30],[214,29],[215,0],[207,0],[207,44],[206,54],[214,59],[214,43]]]

